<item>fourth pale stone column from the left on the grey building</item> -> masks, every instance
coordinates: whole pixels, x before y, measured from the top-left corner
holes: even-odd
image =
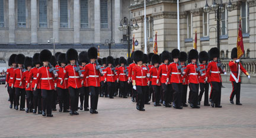
[[[80,5],[79,0],[74,0],[73,24],[74,24],[74,43],[80,43]]]

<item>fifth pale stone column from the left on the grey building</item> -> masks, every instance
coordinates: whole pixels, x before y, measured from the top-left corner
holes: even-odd
[[[100,43],[100,0],[94,1],[94,43]]]

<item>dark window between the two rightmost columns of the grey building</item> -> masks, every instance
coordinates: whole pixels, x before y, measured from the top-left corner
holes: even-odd
[[[107,0],[100,1],[101,8],[101,28],[108,28],[108,5]]]

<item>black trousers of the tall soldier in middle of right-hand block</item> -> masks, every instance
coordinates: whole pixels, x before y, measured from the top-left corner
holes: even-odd
[[[181,96],[182,96],[181,89],[182,89],[182,84],[172,83],[172,90],[174,91],[173,92],[173,95],[174,95],[173,102],[177,107],[181,106]]]

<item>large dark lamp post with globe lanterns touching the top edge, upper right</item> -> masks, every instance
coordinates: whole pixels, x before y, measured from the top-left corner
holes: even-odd
[[[226,5],[226,9],[228,11],[232,11],[233,8],[234,6],[231,4],[231,0],[229,0],[228,5]],[[209,13],[210,10],[215,11],[215,20],[217,21],[217,48],[220,49],[220,13],[225,12],[225,6],[222,4],[222,0],[213,0],[212,5],[210,7],[206,0],[206,5],[204,6],[203,11]]]

